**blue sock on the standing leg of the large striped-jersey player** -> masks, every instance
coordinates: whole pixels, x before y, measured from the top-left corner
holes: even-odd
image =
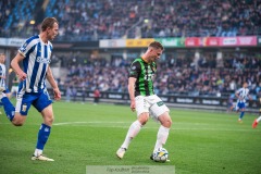
[[[51,127],[42,123],[38,133],[36,149],[44,150],[50,133],[51,133]]]

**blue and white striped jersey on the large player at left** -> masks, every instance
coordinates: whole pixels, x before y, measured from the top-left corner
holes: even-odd
[[[46,88],[46,74],[51,62],[52,44],[45,44],[39,35],[28,38],[18,49],[25,58],[24,72],[27,77],[20,84],[20,91],[38,92]]]

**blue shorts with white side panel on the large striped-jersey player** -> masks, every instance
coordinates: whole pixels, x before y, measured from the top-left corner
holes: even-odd
[[[27,115],[30,104],[33,104],[38,112],[41,112],[51,103],[52,100],[47,90],[40,92],[18,92],[15,112]]]

